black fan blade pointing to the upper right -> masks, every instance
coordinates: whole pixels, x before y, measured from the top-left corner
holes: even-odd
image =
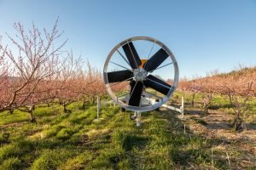
[[[166,50],[160,48],[145,64],[145,71],[154,71],[164,60],[167,59],[169,54],[166,53]]]

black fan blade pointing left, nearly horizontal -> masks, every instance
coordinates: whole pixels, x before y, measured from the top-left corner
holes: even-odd
[[[131,77],[133,72],[128,70],[108,72],[108,82],[123,82]]]

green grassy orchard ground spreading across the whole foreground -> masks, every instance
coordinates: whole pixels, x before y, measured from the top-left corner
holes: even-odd
[[[179,105],[180,95],[174,95],[174,104]],[[231,114],[220,100],[214,99],[210,116]],[[225,132],[236,138],[224,138],[222,133],[212,137],[209,132],[214,129],[207,131],[211,119],[201,115],[200,105],[185,105],[184,118],[165,109],[145,112],[142,127],[136,127],[129,118],[132,113],[121,112],[119,106],[102,105],[99,122],[96,105],[85,110],[81,106],[69,105],[71,113],[64,114],[59,105],[39,105],[37,123],[30,123],[24,112],[1,113],[0,169],[256,168],[255,140],[247,137],[255,135],[255,129],[237,134],[227,128]],[[250,123],[254,122],[253,118]]]

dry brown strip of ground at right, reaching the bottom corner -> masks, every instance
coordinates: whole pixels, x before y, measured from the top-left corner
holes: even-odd
[[[178,116],[181,118],[181,116]],[[209,111],[209,115],[201,111],[189,111],[183,117],[186,127],[191,133],[213,141],[212,149],[230,154],[231,167],[256,167],[256,125],[245,122],[247,129],[236,133],[231,127],[232,115],[219,111]],[[225,158],[227,159],[227,158]],[[238,169],[239,169],[238,168]]]

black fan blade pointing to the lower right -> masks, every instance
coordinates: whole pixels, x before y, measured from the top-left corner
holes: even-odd
[[[172,87],[171,85],[152,75],[148,76],[147,80],[144,81],[144,85],[165,95],[168,94],[170,88]]]

